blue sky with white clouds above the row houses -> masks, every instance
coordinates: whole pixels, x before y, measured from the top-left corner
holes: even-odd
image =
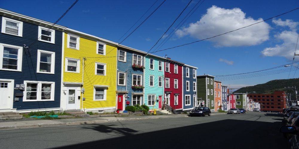
[[[176,27],[177,23],[192,9],[197,1],[191,2],[173,28]],[[74,0],[16,0],[13,2],[2,0],[1,8],[45,21],[55,22],[73,2]],[[155,0],[79,0],[58,24],[117,42],[154,2]],[[153,8],[158,7],[158,4],[161,2],[162,0],[158,0]],[[122,44],[148,51],[188,2],[189,0],[166,0]],[[260,0],[205,0],[179,29],[180,32],[176,32],[161,49],[234,30],[237,29],[236,27],[243,27],[251,22],[255,23],[259,19],[267,19],[296,7],[299,7],[297,0],[289,0],[288,2],[278,0],[271,2]],[[145,16],[149,15],[153,8]],[[292,53],[294,53],[296,45],[294,41],[297,41],[298,35],[298,14],[299,10],[295,10],[274,20],[266,21],[266,23],[248,27],[246,30],[239,30],[236,33],[216,37],[210,41],[202,41],[155,54],[159,56],[167,54],[172,59],[196,66],[199,68],[197,71],[198,75],[228,75],[283,65],[292,62]],[[287,19],[289,20],[287,21]],[[191,23],[193,24],[190,26]],[[228,80],[228,78],[216,78],[216,80],[223,80],[223,84],[229,84],[230,86],[248,86],[274,79],[286,79],[288,75],[289,73],[286,72],[237,80]],[[290,78],[293,75],[294,72],[291,72]],[[295,77],[298,77],[298,75],[299,71],[295,74]]]

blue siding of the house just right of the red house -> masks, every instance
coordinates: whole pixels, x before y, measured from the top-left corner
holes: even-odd
[[[186,77],[186,68],[189,68],[189,77]],[[196,95],[196,93],[194,94],[193,91],[193,82],[196,83],[196,78],[193,78],[193,69],[192,67],[188,67],[188,66],[183,66],[183,110],[184,109],[189,109],[189,108],[193,108],[193,95]],[[196,69],[195,69],[196,71]],[[189,81],[189,91],[186,90],[186,81]],[[197,89],[196,89],[197,90]],[[190,95],[190,105],[186,105],[185,103],[185,95]],[[195,98],[197,100],[197,98]]]

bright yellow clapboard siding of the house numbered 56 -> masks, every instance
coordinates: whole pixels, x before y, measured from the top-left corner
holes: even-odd
[[[106,45],[106,55],[97,54],[97,42],[80,37],[79,50],[67,48],[67,33],[64,37],[64,72],[63,82],[82,82],[82,62],[86,58],[84,66],[83,88],[85,101],[83,108],[105,108],[115,107],[116,104],[116,69],[117,69],[117,48]],[[111,52],[110,52],[111,51]],[[97,58],[95,58],[97,57]],[[80,59],[80,73],[65,72],[65,58]],[[95,63],[106,63],[106,76],[95,75]],[[105,101],[94,101],[94,85],[106,85],[107,96]],[[82,101],[82,100],[80,100]],[[81,108],[82,103],[80,103]]]

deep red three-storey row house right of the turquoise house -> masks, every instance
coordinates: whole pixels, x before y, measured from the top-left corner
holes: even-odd
[[[173,113],[183,111],[183,65],[170,58],[164,61],[164,103],[172,108]]]

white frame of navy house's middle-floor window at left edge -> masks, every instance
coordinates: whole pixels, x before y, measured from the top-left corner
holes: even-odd
[[[4,46],[18,49],[17,69],[6,69],[6,68],[2,68]],[[0,43],[0,70],[9,70],[9,71],[18,71],[18,72],[21,72],[22,71],[22,58],[23,58],[23,47],[22,46],[14,46],[14,45],[10,45],[10,44],[1,44]]]

